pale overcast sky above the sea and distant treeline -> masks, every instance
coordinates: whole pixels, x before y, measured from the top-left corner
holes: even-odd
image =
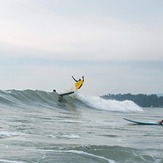
[[[0,4],[0,89],[163,93],[163,0]]]

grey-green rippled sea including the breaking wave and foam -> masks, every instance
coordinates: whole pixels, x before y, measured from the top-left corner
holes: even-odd
[[[0,163],[163,163],[163,108],[76,92],[0,91]]]

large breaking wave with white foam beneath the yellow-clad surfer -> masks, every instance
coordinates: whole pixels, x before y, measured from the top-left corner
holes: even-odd
[[[105,100],[96,96],[84,96],[75,92],[61,98],[58,93],[38,90],[0,90],[1,107],[87,108],[105,111],[143,111],[132,101]]]

